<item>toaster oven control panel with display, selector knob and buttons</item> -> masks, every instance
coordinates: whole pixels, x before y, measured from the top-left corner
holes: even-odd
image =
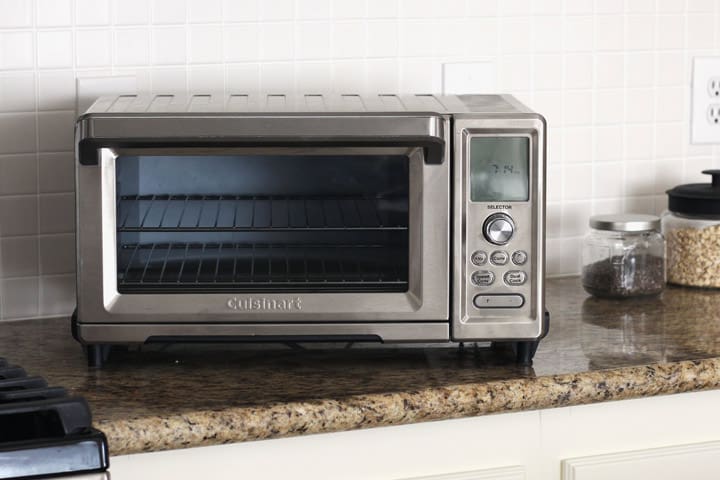
[[[461,243],[456,250],[459,311],[453,335],[532,337],[537,335],[542,264],[538,133],[533,128],[498,131],[467,124],[456,138],[463,145],[456,157],[461,167],[456,207],[464,213],[456,230]]]

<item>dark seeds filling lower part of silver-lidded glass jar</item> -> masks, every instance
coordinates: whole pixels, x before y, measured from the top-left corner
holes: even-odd
[[[665,286],[665,259],[617,255],[583,267],[582,280],[585,291],[596,297],[657,295]]]

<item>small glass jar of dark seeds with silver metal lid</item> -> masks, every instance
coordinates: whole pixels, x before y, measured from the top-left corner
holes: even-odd
[[[590,217],[583,240],[582,284],[596,297],[658,295],[665,287],[665,239],[660,218],[618,214]]]

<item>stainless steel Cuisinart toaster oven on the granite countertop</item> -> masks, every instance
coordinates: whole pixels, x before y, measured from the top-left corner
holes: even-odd
[[[113,344],[509,342],[543,295],[545,121],[507,95],[124,95],[76,125],[77,311]]]

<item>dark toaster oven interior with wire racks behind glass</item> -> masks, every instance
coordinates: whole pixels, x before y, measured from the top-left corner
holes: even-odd
[[[121,154],[119,293],[406,292],[409,156]]]

